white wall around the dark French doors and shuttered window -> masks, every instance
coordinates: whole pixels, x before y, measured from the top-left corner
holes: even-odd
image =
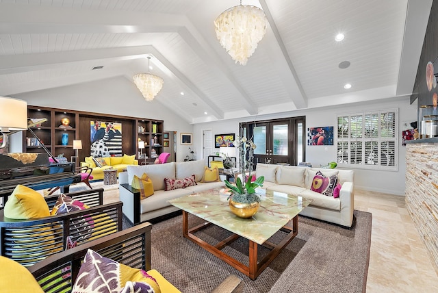
[[[298,110],[294,112],[285,112],[274,115],[257,116],[257,118],[242,118],[225,120],[216,123],[200,123],[194,125],[194,149],[196,157],[201,158],[202,133],[203,130],[209,129],[214,134],[220,133],[239,133],[239,123],[248,120],[266,120],[275,118],[284,118],[292,116],[306,116],[307,127],[334,126],[336,127],[336,116],[338,114],[351,114],[354,112],[364,112],[367,110],[385,110],[398,108],[399,124],[402,129],[404,122],[413,122],[417,120],[417,105],[409,105],[409,97],[387,99],[386,101],[374,101],[374,103],[360,103],[355,105],[326,107],[323,109]],[[398,171],[381,171],[381,170],[364,170],[353,168],[355,170],[355,188],[370,190],[376,192],[385,192],[389,194],[404,195],[404,181],[406,170],[406,149],[402,146],[401,130],[398,140]],[[306,146],[306,161],[311,162],[313,166],[326,165],[328,162],[336,162],[336,147],[333,146]]]

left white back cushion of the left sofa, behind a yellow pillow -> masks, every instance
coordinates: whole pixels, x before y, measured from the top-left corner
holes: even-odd
[[[175,162],[151,165],[127,166],[128,182],[132,182],[133,176],[142,177],[146,173],[151,178],[155,192],[164,190],[164,178],[175,179]]]

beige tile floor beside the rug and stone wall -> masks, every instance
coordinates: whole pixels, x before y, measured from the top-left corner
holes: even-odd
[[[118,201],[118,190],[104,193]],[[404,196],[355,190],[355,209],[372,213],[367,292],[438,292],[438,274],[413,225]]]

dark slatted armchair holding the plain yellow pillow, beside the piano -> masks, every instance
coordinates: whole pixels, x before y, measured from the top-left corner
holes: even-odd
[[[122,229],[120,201],[103,205],[103,189],[66,194],[90,208],[44,218],[14,220],[0,211],[0,253],[23,266],[31,266],[64,251],[68,239],[77,245]],[[44,200],[53,208],[58,195]]]

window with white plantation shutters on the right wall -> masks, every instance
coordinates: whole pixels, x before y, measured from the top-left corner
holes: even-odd
[[[337,116],[337,164],[397,170],[398,110]]]

